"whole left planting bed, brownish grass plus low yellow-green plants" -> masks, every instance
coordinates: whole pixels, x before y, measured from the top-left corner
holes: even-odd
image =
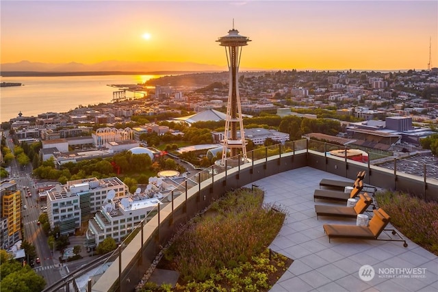
[[[260,189],[237,189],[211,204],[185,226],[164,254],[181,275],[178,287],[193,291],[193,286],[199,283],[216,283],[214,286],[220,291],[224,285],[230,289],[237,283],[237,290],[242,285],[247,291],[268,289],[269,274],[256,269],[257,261],[261,261],[257,256],[266,254],[283,226],[285,215],[281,207],[263,204]],[[263,263],[273,269],[269,261]],[[247,269],[248,265],[253,268]]]

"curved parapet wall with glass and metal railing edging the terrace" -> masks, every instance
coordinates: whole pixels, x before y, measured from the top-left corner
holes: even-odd
[[[137,234],[129,237],[129,242],[125,240],[120,243],[112,256],[107,258],[105,263],[113,263],[107,265],[103,273],[96,271],[90,274],[86,289],[96,292],[133,291],[138,282],[146,281],[151,275],[157,255],[162,253],[162,249],[177,233],[181,224],[205,209],[227,189],[248,185],[264,175],[310,166],[354,178],[356,170],[367,170],[368,183],[389,189],[397,189],[398,185],[401,185],[404,190],[412,185],[412,189],[420,189],[416,195],[424,199],[437,200],[426,196],[430,187],[438,189],[435,175],[438,174],[437,164],[426,163],[426,160],[419,163],[420,156],[401,157],[398,153],[389,156],[387,152],[382,151],[353,150],[356,149],[315,140],[298,140],[257,148],[248,152],[248,161],[242,161],[240,156],[230,157],[225,167],[211,165],[201,170],[177,185],[175,189],[179,190],[179,195],[174,196],[172,192],[169,202],[158,205],[156,215],[139,224],[134,231]],[[430,161],[434,161],[436,158],[431,159]],[[405,164],[415,165],[415,172],[408,171],[411,170],[411,166],[400,167]],[[389,181],[387,177],[390,178]],[[424,190],[424,194],[421,190]]]

